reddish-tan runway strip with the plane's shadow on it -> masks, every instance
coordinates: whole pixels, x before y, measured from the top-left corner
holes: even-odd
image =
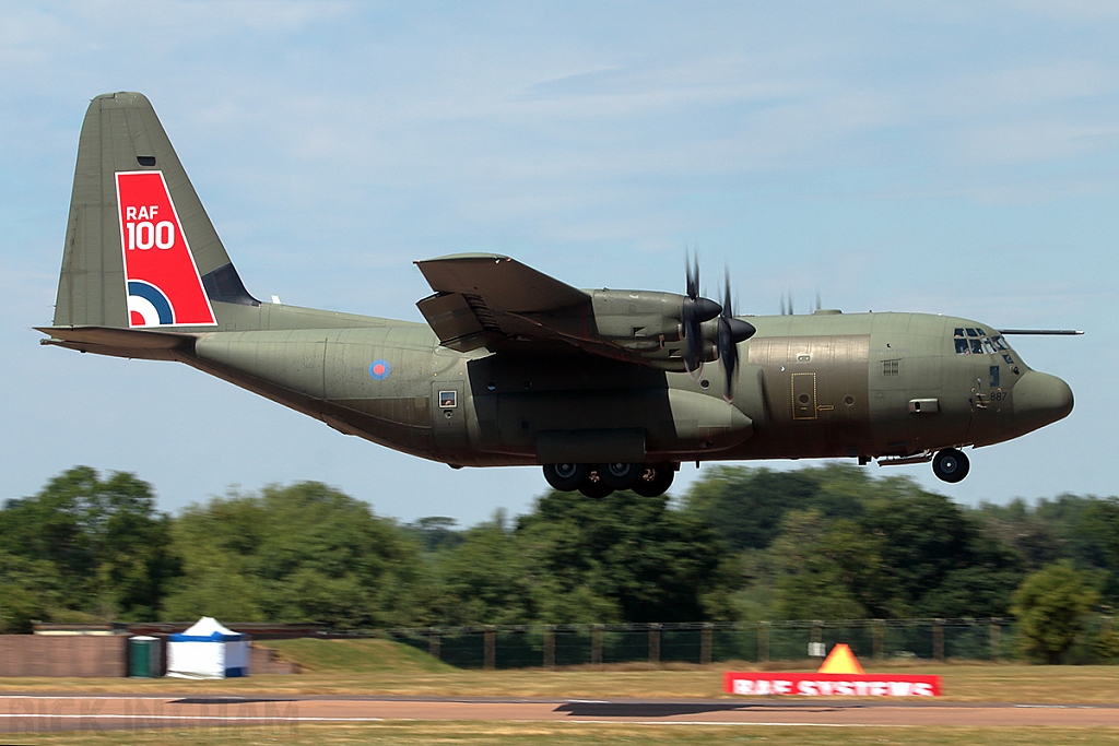
[[[198,695],[0,695],[0,731],[360,724],[385,720],[630,723],[740,726],[1110,726],[1119,706],[912,701]]]

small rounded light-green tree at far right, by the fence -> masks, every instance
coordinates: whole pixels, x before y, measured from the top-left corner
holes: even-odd
[[[1099,599],[1084,575],[1071,561],[1060,560],[1023,580],[1014,594],[1013,612],[1023,651],[1049,663],[1060,663],[1084,627],[1084,615]]]

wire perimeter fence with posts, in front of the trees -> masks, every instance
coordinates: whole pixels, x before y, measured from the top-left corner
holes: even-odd
[[[1109,624],[1110,626],[1110,624]],[[822,658],[838,642],[869,660],[1017,658],[1014,622],[912,618],[736,624],[554,624],[379,630],[330,636],[402,642],[459,668],[713,663]]]

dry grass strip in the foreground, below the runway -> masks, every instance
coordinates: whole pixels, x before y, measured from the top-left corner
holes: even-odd
[[[0,736],[0,738],[4,738]],[[19,734],[4,743],[28,746],[351,746],[354,744],[492,744],[493,746],[611,746],[613,744],[756,743],[767,746],[1035,746],[1037,744],[1119,744],[1119,730],[1108,728],[803,728],[760,726],[661,726],[629,724],[385,723],[359,727],[300,726],[283,729],[199,729]]]

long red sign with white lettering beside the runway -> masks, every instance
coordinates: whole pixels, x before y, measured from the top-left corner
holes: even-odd
[[[735,673],[723,674],[731,695],[801,697],[939,697],[939,676],[877,673]]]

